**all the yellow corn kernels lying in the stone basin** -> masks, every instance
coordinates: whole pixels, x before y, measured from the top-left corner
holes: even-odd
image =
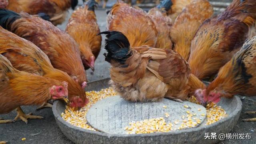
[[[89,104],[85,107],[81,108],[80,110],[77,110],[75,108],[70,108],[69,106],[66,106],[66,110],[64,113],[61,114],[62,118],[69,122],[70,124],[74,126],[78,126],[80,128],[85,128],[88,130],[94,130],[92,128],[87,120],[86,120],[86,114],[89,110],[89,108],[95,104],[98,100],[102,100],[104,98],[107,98],[109,96],[116,96],[116,92],[110,87],[106,89],[102,89],[101,91],[91,91],[86,92],[87,98],[90,100]],[[190,102],[198,103],[196,98],[194,96],[188,98]],[[185,108],[188,106],[184,106]],[[166,108],[166,106],[163,106],[163,108]],[[198,109],[200,111],[200,109]],[[206,107],[207,112],[207,123],[212,124],[224,117],[227,116],[224,109],[221,108],[221,106],[217,106],[216,104],[210,103]],[[146,134],[146,133],[153,133],[153,132],[169,132],[169,131],[175,131],[175,130],[181,130],[188,127],[195,127],[198,124],[201,123],[202,118],[197,118],[195,114],[190,114],[189,111],[186,111],[186,116],[181,116],[182,122],[174,121],[172,123],[166,123],[163,117],[160,118],[152,118],[149,120],[142,120],[138,122],[130,122],[129,126],[126,126],[124,130],[127,131],[127,134]],[[165,113],[163,114],[166,118],[170,116],[170,114]],[[204,116],[204,115],[202,115]],[[178,127],[178,124],[180,126]]]

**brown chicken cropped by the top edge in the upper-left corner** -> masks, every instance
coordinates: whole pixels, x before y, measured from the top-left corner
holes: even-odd
[[[65,21],[68,9],[74,10],[77,4],[78,0],[1,0],[0,8],[32,15],[45,13],[57,25]]]

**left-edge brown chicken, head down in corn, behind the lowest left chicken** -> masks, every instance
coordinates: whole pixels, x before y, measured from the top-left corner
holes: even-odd
[[[68,82],[70,106],[82,107],[88,103],[84,90],[66,72],[53,68],[47,55],[32,42],[0,27],[0,54],[20,71]],[[47,105],[46,105],[47,106]]]

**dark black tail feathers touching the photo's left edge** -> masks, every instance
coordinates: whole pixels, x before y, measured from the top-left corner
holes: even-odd
[[[20,14],[14,11],[0,9],[0,26],[4,29],[10,30],[12,23],[19,18],[21,18]]]

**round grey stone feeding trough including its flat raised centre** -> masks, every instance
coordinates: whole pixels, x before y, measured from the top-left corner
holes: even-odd
[[[92,82],[86,90],[98,91],[102,88],[108,88],[108,80]],[[198,106],[196,104],[190,102],[184,102],[184,104],[174,102],[173,106],[169,106],[168,102],[168,99],[164,99],[159,105],[154,102],[150,104],[151,106],[148,105],[142,108],[142,103],[126,102],[117,96],[100,100],[90,108],[86,115],[89,124],[100,131],[86,130],[64,121],[61,113],[65,110],[65,104],[62,101],[55,101],[52,110],[60,130],[76,144],[216,144],[220,141],[218,137],[217,139],[205,139],[204,134],[214,132],[218,136],[220,133],[226,134],[230,132],[236,126],[242,110],[242,102],[238,96],[234,96],[232,99],[222,98],[218,105],[226,110],[228,116],[213,124],[205,125],[205,117],[201,116],[204,122],[194,128],[151,134],[126,134],[123,128],[128,126],[128,122],[131,121],[140,121],[160,116],[164,117],[165,112],[170,114],[170,117],[164,117],[165,120],[173,121],[174,119],[180,118],[181,115],[185,115],[185,109],[188,109],[190,112],[197,112],[196,108]],[[185,104],[190,106],[190,108],[184,108],[183,106]],[[163,105],[167,106],[167,108],[163,108]],[[126,106],[127,108],[125,108]],[[200,114],[205,113],[205,109],[202,106],[199,107],[202,109]],[[113,114],[116,114],[116,116]],[[113,118],[108,118],[108,116],[113,116]],[[175,118],[176,116],[177,118]],[[106,122],[104,123],[104,121]]]

